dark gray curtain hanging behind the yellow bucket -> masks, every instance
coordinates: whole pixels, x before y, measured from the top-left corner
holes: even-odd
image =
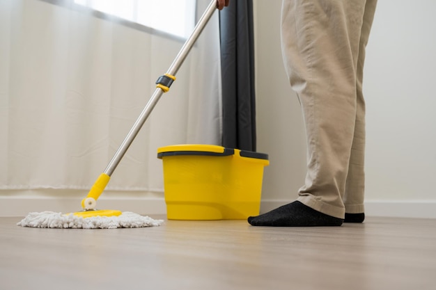
[[[222,145],[256,151],[253,1],[233,0],[219,13]]]

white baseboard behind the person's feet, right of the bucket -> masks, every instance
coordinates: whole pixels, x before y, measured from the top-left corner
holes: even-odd
[[[265,213],[289,202],[290,200],[263,200],[260,212]],[[436,218],[436,200],[368,200],[365,202],[365,216]]]

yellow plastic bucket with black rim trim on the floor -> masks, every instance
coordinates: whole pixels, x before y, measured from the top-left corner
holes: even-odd
[[[260,209],[267,154],[217,145],[160,147],[170,220],[238,220]]]

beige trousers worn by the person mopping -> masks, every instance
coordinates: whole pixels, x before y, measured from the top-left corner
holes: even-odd
[[[364,212],[365,48],[377,0],[283,0],[281,43],[306,127],[298,200],[329,216]]]

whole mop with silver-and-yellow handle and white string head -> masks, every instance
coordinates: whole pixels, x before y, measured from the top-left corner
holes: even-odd
[[[102,172],[102,174],[95,181],[91,187],[86,198],[81,200],[82,211],[77,211],[70,214],[61,214],[54,211],[43,211],[43,212],[32,212],[28,214],[20,223],[22,227],[47,227],[47,228],[76,228],[76,229],[114,229],[118,227],[153,227],[162,225],[163,220],[154,220],[148,216],[141,216],[139,214],[134,214],[129,211],[122,213],[118,210],[99,210],[97,209],[97,200],[106,188],[111,178],[112,173],[127,149],[132,144],[134,138],[137,136],[141,127],[146,122],[151,111],[159,101],[159,98],[164,92],[168,92],[173,81],[176,80],[176,73],[182,65],[183,61],[192,46],[196,42],[196,39],[203,31],[205,25],[208,23],[210,17],[216,10],[217,3],[216,0],[212,0],[203,13],[203,16],[198,20],[192,34],[186,40],[185,44],[180,49],[176,59],[173,61],[169,70],[166,74],[159,76],[156,81],[156,90],[150,97],[150,100],[146,104],[145,108],[134,122],[132,129],[121,143],[120,147],[114,154],[107,168]]]

